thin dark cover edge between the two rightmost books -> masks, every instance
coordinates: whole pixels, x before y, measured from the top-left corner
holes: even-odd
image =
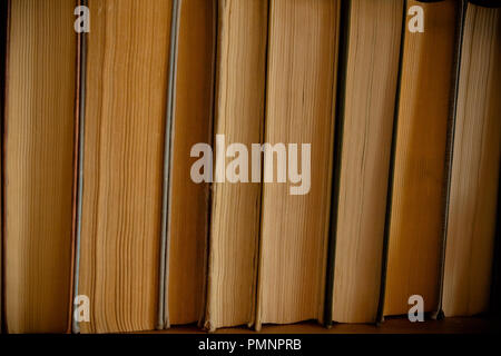
[[[461,65],[461,49],[464,29],[464,18],[466,11],[466,1],[461,0],[458,6],[458,26],[455,34],[455,53],[453,61],[453,75],[452,75],[452,86],[451,86],[451,102],[450,102],[450,115],[448,122],[448,140],[446,140],[446,152],[445,152],[445,209],[443,214],[443,227],[442,227],[442,244],[441,244],[441,259],[440,259],[440,271],[439,271],[439,304],[436,310],[432,313],[431,317],[433,319],[443,318],[442,303],[443,303],[443,279],[444,279],[444,268],[445,268],[445,246],[448,236],[448,222],[449,222],[449,202],[451,195],[451,180],[452,180],[452,159],[454,150],[454,131],[455,131],[455,116],[458,107],[458,90],[459,90],[459,75]]]

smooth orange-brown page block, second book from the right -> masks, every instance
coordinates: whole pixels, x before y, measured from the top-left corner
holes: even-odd
[[[384,315],[406,314],[413,295],[423,297],[424,312],[439,305],[459,2],[409,1],[407,9],[415,4],[424,10],[424,28],[405,26]]]

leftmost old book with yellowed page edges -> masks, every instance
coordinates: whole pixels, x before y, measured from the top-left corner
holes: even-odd
[[[4,322],[63,333],[71,279],[75,2],[9,2],[3,151]]]

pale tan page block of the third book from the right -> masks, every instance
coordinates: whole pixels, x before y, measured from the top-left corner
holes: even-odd
[[[332,319],[370,323],[380,297],[403,4],[352,0],[347,16]]]

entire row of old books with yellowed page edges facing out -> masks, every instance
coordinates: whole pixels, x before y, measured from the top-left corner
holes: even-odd
[[[1,13],[4,332],[375,323],[415,295],[433,317],[499,299],[497,1]],[[227,168],[232,144],[307,144],[311,181],[291,194],[242,166],[195,181],[197,144]]]

